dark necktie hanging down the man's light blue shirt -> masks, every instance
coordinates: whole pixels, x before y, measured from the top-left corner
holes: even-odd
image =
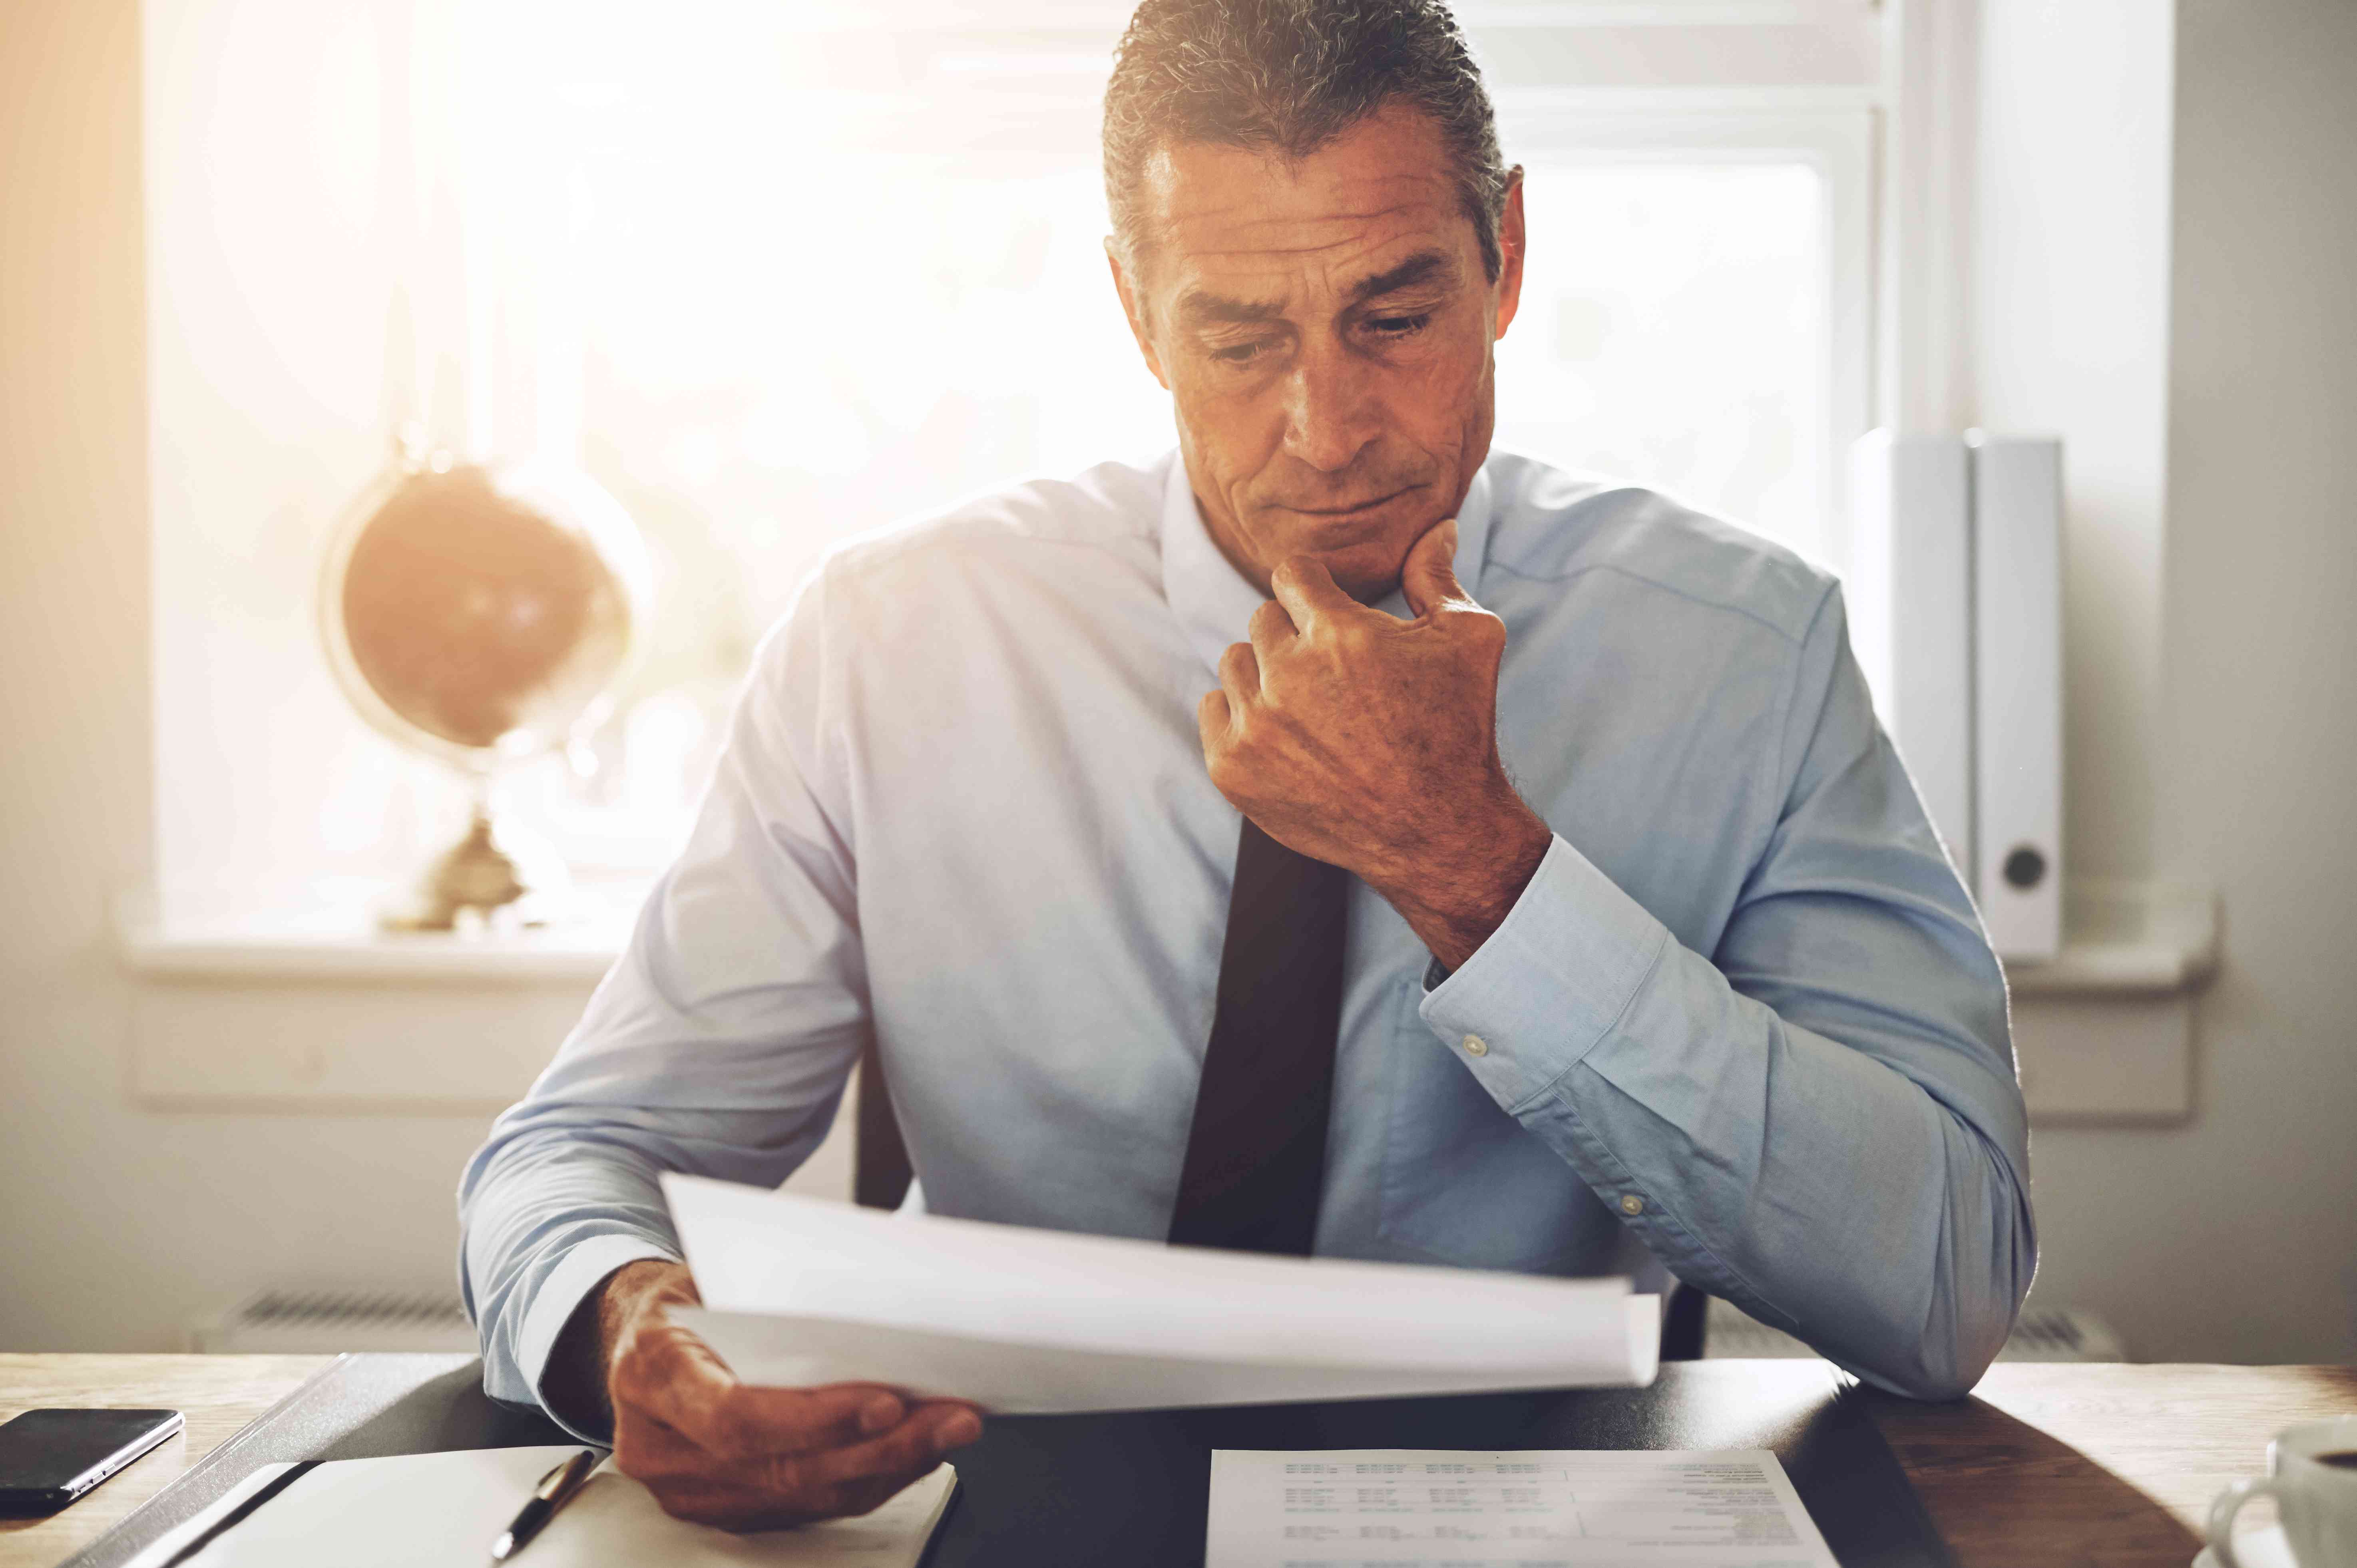
[[[1325,1181],[1351,872],[1244,818],[1171,1240],[1308,1257]]]

